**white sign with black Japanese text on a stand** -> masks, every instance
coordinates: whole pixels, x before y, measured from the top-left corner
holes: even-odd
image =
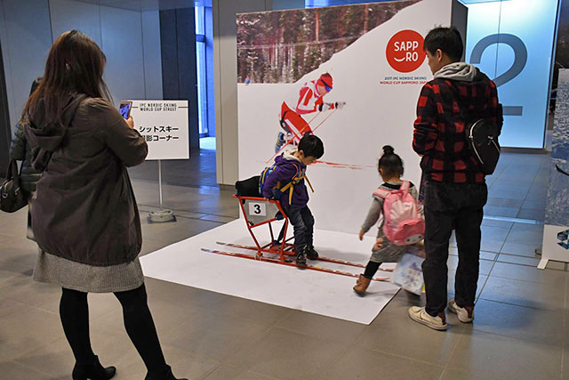
[[[132,101],[131,115],[147,160],[189,158],[188,101]]]

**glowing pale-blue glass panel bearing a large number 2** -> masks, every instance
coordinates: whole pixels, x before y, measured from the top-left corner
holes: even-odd
[[[501,145],[544,147],[557,0],[462,0],[469,8],[466,61],[498,86]]]

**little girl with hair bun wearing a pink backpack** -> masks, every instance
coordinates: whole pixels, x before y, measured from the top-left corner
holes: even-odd
[[[358,295],[365,295],[365,289],[369,287],[370,281],[373,279],[375,272],[380,268],[381,263],[397,263],[399,258],[408,250],[408,247],[406,246],[417,243],[422,239],[422,234],[424,233],[424,221],[422,220],[421,211],[416,203],[418,196],[417,189],[413,183],[401,180],[401,176],[404,171],[403,160],[395,154],[395,151],[389,145],[383,147],[383,153],[378,164],[378,169],[383,183],[373,192],[372,206],[365,217],[362,229],[359,231],[359,239],[364,239],[365,232],[367,232],[373,224],[380,219],[381,214],[384,215],[378,226],[379,230],[376,243],[373,245],[372,257],[370,258],[369,263],[365,266],[364,274],[359,275],[359,279],[357,279],[356,286],[354,287],[354,290]],[[397,233],[392,235],[392,238],[397,236],[397,239],[402,239],[401,241],[397,240],[394,242],[390,241],[384,231],[384,224],[387,219],[385,215],[386,213],[384,213],[384,206],[386,205],[386,198],[389,197],[390,193],[397,190],[403,190],[403,192],[397,193],[398,197],[400,197],[398,199],[405,201],[407,206],[405,207],[406,211],[400,212],[400,214],[402,217],[411,216],[412,219],[400,224],[401,227],[399,229],[397,229],[397,226],[393,226],[394,229],[389,230],[391,233],[393,230],[397,229]],[[405,199],[405,190],[408,190],[409,195],[413,198]],[[409,202],[410,200],[411,202]],[[399,209],[401,209],[401,207]],[[388,213],[389,212],[390,214],[397,214],[399,211],[388,210]],[[389,220],[389,222],[394,221]],[[403,224],[405,224],[405,226],[403,226]]]

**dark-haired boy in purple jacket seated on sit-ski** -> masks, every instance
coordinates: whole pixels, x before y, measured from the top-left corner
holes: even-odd
[[[275,165],[266,178],[261,175],[262,196],[280,200],[284,214],[293,224],[296,263],[305,266],[307,257],[317,260],[318,253],[312,244],[314,217],[308,206],[309,192],[306,189],[306,167],[324,156],[324,144],[314,134],[305,134],[298,149],[286,150],[275,158]]]

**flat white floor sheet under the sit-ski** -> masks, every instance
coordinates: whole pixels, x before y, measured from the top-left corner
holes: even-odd
[[[266,232],[268,241],[268,229],[258,227],[256,230],[261,239]],[[315,246],[322,256],[365,264],[373,245],[372,231],[368,234],[370,237],[359,241],[356,235],[316,230]],[[141,257],[144,274],[154,279],[363,324],[370,324],[399,290],[389,282],[373,281],[369,295],[359,297],[352,290],[355,278],[201,251],[201,248],[210,248],[254,254],[254,251],[220,246],[218,241],[252,245],[244,221],[239,219]],[[309,263],[363,272],[357,267]],[[390,275],[390,272],[378,271],[376,277]]]

